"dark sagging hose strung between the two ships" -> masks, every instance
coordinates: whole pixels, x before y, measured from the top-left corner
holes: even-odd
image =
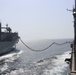
[[[59,43],[53,42],[53,43],[51,43],[49,46],[47,46],[46,48],[41,49],[41,50],[37,50],[37,49],[33,49],[33,48],[29,47],[27,44],[25,44],[25,43],[23,42],[23,40],[22,40],[21,38],[20,38],[20,41],[24,44],[24,46],[26,46],[28,49],[30,49],[30,50],[32,50],[32,51],[34,51],[34,52],[45,51],[45,50],[47,50],[48,48],[52,47],[53,45],[64,45],[64,44],[72,43],[72,42],[64,42],[64,43],[59,44]]]

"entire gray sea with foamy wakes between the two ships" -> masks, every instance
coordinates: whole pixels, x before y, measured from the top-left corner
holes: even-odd
[[[43,49],[52,42],[63,43],[72,39],[24,41],[34,49]],[[71,55],[70,43],[53,45],[43,52],[33,52],[21,42],[17,49],[0,57],[0,75],[67,75]]]

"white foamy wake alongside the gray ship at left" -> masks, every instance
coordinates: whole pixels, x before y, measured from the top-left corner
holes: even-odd
[[[11,70],[15,70],[9,66],[19,58],[22,52],[22,50],[14,50],[0,57],[0,75],[7,75]]]

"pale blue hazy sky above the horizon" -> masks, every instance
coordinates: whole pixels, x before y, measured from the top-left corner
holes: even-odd
[[[74,0],[0,0],[0,21],[24,40],[73,38]]]

